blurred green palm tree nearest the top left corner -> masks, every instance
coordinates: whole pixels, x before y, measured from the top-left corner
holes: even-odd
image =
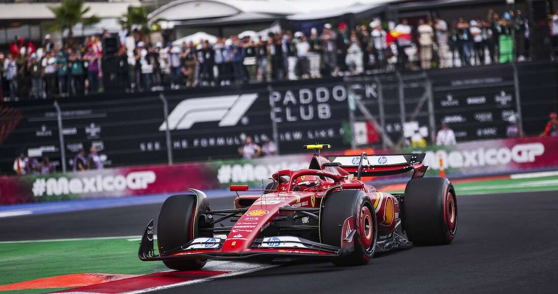
[[[84,7],[83,0],[63,0],[60,6],[49,6],[50,11],[54,13],[55,20],[45,25],[47,31],[64,31],[68,30],[68,40],[73,42],[73,28],[78,23],[83,26],[95,25],[100,22],[100,18],[93,15],[85,17],[91,7]]]

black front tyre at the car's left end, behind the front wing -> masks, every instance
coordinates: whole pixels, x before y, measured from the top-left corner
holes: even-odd
[[[182,244],[196,238],[195,214],[198,197],[191,194],[170,196],[165,200],[157,222],[157,243],[159,253],[165,254]],[[189,271],[205,266],[205,259],[185,259],[180,261],[163,261],[165,266],[177,271]]]

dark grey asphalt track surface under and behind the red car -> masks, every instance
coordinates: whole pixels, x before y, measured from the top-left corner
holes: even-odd
[[[210,200],[229,208],[231,198]],[[141,234],[160,204],[4,218],[0,240]],[[558,288],[558,191],[458,196],[451,245],[380,253],[367,266],[282,266],[165,293],[551,293]]]

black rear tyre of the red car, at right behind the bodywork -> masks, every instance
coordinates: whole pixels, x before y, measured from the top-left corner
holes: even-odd
[[[415,245],[450,244],[457,232],[457,198],[448,179],[426,177],[407,183],[403,229]]]

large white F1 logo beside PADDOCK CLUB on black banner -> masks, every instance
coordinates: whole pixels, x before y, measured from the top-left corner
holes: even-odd
[[[190,129],[198,122],[219,122],[219,127],[236,126],[258,98],[258,94],[227,95],[182,100],[169,114],[169,129]],[[166,131],[163,122],[159,131]]]

